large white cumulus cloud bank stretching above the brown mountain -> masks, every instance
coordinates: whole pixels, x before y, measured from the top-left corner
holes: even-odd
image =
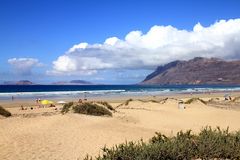
[[[220,20],[191,31],[153,26],[147,33],[129,32],[102,44],[74,45],[53,62],[49,74],[93,74],[104,69],[153,69],[169,61],[196,56],[240,58],[240,19]]]

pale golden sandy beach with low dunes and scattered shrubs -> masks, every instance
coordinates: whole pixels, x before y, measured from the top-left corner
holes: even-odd
[[[61,105],[57,105],[57,109],[38,108],[34,100],[2,101],[0,105],[13,116],[0,118],[0,159],[75,160],[83,159],[86,154],[101,154],[105,145],[111,147],[140,139],[147,141],[155,132],[171,136],[180,130],[199,132],[205,126],[239,130],[240,106],[219,108],[195,101],[184,104],[186,109],[178,108],[179,100],[200,97],[206,101],[211,98],[223,101],[223,96],[224,93],[181,94],[168,99],[166,96],[134,97],[128,105],[120,105],[126,98],[106,98],[104,100],[116,108],[113,117],[62,115]],[[240,93],[232,96],[240,96]],[[28,109],[20,110],[21,105]]]

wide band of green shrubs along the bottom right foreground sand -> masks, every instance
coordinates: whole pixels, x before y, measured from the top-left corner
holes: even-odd
[[[92,160],[87,156],[85,160]],[[165,159],[240,159],[240,131],[205,127],[199,134],[191,130],[167,137],[161,133],[148,143],[126,142],[103,148],[97,160],[165,160]]]

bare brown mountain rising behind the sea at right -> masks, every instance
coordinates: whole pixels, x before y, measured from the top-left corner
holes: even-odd
[[[240,84],[240,60],[196,57],[159,66],[140,84]]]

